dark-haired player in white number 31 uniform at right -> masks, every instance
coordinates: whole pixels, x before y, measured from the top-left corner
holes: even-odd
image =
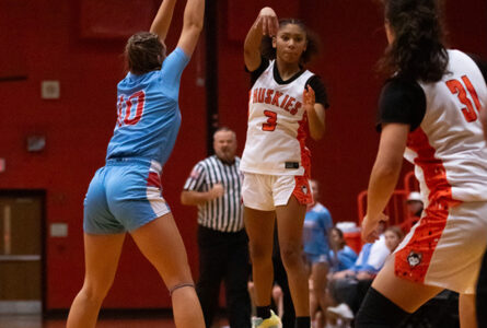
[[[392,77],[379,101],[382,130],[362,238],[374,231],[401,173],[415,165],[425,211],[375,278],[356,327],[395,327],[443,289],[460,293],[461,327],[475,323],[475,283],[487,244],[487,147],[479,109],[486,69],[442,44],[434,0],[384,0]]]

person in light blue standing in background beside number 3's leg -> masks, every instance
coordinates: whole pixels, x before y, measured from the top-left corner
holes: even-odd
[[[320,198],[320,184],[317,180],[310,180],[313,190],[313,202],[308,204],[306,215],[303,224],[304,255],[311,269],[310,279],[312,290],[310,290],[310,313],[311,319],[315,320],[316,313],[322,309],[323,316],[326,314],[327,302],[325,290],[327,284],[326,274],[329,268],[329,243],[328,234],[333,227],[329,211],[317,200]],[[326,318],[324,318],[326,321]]]

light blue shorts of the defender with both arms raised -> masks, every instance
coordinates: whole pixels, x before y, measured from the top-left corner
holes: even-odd
[[[161,187],[161,165],[146,159],[108,160],[84,198],[83,230],[90,234],[134,231],[171,212]]]

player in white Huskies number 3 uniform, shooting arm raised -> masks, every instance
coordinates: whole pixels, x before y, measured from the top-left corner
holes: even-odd
[[[306,130],[313,139],[322,138],[328,107],[323,82],[303,68],[315,50],[316,40],[301,22],[279,22],[270,8],[260,11],[245,38],[245,67],[253,85],[240,168],[244,172],[244,220],[257,305],[253,327],[280,324],[270,312],[273,234],[277,218],[295,327],[310,328],[308,274],[302,259],[304,214],[312,201],[305,139]]]

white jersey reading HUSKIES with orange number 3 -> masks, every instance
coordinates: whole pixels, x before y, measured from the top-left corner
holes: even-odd
[[[313,75],[304,71],[290,83],[274,79],[275,61],[258,77],[250,92],[248,128],[240,169],[268,175],[304,175],[310,154],[304,141],[308,116],[303,91]]]

